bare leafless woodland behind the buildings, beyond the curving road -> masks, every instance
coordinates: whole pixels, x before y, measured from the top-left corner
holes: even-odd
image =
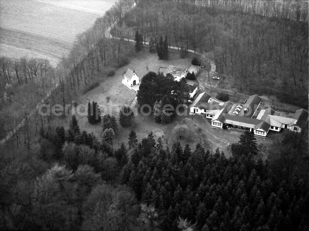
[[[122,22],[204,52],[241,92],[308,107],[307,1],[137,1]]]

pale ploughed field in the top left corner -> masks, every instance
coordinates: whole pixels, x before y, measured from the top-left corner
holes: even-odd
[[[87,30],[115,0],[0,1],[0,56],[66,56],[76,35]]]

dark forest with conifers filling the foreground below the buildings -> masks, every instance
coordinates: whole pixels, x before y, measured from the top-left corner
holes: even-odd
[[[163,148],[152,132],[138,143],[132,131],[128,158],[124,144],[113,151],[73,116],[66,131],[40,129],[38,152],[1,162],[0,228],[307,230],[305,137],[274,143],[263,162],[248,131],[228,159],[200,144]]]

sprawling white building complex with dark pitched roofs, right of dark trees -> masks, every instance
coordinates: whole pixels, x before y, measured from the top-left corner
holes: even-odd
[[[288,118],[264,105],[263,99],[256,94],[243,104],[213,102],[210,95],[203,92],[190,105],[190,113],[210,119],[214,128],[250,130],[254,135],[263,137],[270,130],[279,132],[282,128],[300,133],[308,123],[308,111],[297,110],[293,118]]]

